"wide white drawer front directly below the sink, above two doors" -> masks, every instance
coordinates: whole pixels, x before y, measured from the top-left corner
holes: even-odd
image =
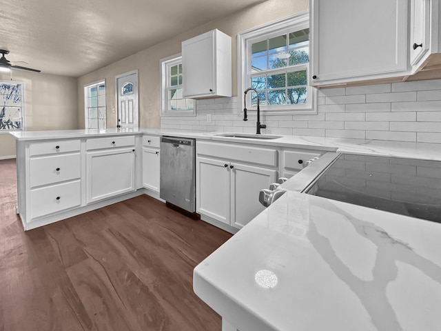
[[[278,153],[273,148],[258,146],[245,146],[230,143],[212,143],[208,141],[196,142],[198,156],[216,157],[216,159],[229,159],[277,167]]]

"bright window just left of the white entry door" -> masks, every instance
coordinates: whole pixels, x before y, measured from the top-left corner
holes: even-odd
[[[105,81],[84,86],[85,128],[105,129]]]

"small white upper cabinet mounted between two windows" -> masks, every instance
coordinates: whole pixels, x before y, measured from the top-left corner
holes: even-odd
[[[212,30],[182,43],[183,96],[232,96],[232,39]]]

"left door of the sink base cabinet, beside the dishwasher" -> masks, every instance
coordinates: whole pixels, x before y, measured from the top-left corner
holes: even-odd
[[[229,163],[196,158],[196,211],[229,223]]]

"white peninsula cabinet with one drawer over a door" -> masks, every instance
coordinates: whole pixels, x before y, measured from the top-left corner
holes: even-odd
[[[135,190],[134,136],[88,139],[86,202]]]

